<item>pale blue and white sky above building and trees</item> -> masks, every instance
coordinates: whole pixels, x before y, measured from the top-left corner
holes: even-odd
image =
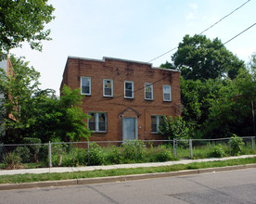
[[[41,88],[59,95],[62,74],[69,56],[102,59],[116,57],[148,62],[177,47],[186,34],[193,36],[248,0],[49,0],[56,19],[45,25],[52,41],[43,51],[28,44],[10,52],[24,56],[41,73]],[[223,43],[256,22],[256,0],[250,0],[209,31],[211,40]],[[246,63],[256,52],[256,26],[225,47]],[[159,67],[171,61],[173,52],[151,61]],[[138,76],[139,77],[139,76]]]

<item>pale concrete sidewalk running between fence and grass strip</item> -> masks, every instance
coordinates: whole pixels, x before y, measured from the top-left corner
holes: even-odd
[[[213,159],[184,159],[176,161],[155,162],[155,163],[133,163],[133,164],[115,164],[108,166],[85,166],[85,167],[53,167],[53,168],[38,168],[38,169],[21,169],[21,170],[0,170],[0,175],[14,175],[25,173],[47,173],[47,172],[86,172],[95,170],[113,170],[113,169],[129,169],[129,168],[141,168],[141,167],[159,167],[159,166],[171,166],[173,164],[187,164],[192,162],[203,162],[213,160],[227,160],[227,159],[244,159],[253,158],[256,155],[243,155],[239,157],[229,158],[213,158]]]

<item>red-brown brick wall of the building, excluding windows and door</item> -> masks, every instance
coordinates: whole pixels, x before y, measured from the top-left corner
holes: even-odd
[[[122,59],[94,60],[69,57],[60,88],[63,84],[69,85],[71,89],[79,88],[81,76],[91,77],[91,96],[85,96],[83,99],[83,112],[103,111],[108,114],[108,132],[93,134],[91,141],[122,141],[120,113],[126,108],[128,109],[124,114],[138,117],[138,139],[161,138],[160,134],[151,134],[151,115],[180,115],[180,72],[178,71],[152,69],[148,63]],[[103,79],[113,80],[113,97],[103,96]],[[134,82],[134,99],[124,98],[124,81]],[[145,100],[145,83],[154,83],[152,101]],[[163,84],[172,87],[171,102],[163,101]]]

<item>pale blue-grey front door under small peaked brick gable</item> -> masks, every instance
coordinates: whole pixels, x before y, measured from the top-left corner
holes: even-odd
[[[137,139],[137,119],[122,118],[122,141]]]

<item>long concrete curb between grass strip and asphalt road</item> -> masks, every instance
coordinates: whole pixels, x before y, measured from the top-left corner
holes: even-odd
[[[217,167],[217,168],[198,169],[198,170],[185,170],[185,171],[179,171],[179,172],[157,172],[157,173],[133,174],[133,175],[124,175],[124,176],[123,175],[109,176],[109,177],[100,177],[100,178],[84,178],[84,179],[71,179],[71,180],[34,182],[34,183],[22,183],[22,184],[6,184],[6,185],[0,185],[0,190],[13,190],[13,189],[36,188],[36,187],[56,187],[56,186],[65,186],[65,185],[92,185],[92,184],[110,183],[110,182],[126,182],[126,181],[142,180],[142,179],[193,175],[193,174],[206,173],[206,172],[225,172],[225,171],[243,170],[243,169],[251,169],[251,168],[256,168],[256,164]]]

